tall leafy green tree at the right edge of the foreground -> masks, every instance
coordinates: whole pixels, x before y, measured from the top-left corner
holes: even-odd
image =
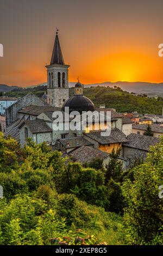
[[[163,138],[151,148],[145,163],[133,169],[134,181],[127,179],[122,187],[127,203],[124,220],[128,240],[134,245],[162,244]]]

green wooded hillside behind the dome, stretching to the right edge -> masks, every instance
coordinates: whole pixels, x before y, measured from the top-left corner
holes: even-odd
[[[70,89],[73,94],[73,88]],[[162,114],[162,98],[152,99],[147,95],[136,96],[124,92],[121,88],[91,87],[84,89],[84,95],[95,103],[96,107],[105,104],[105,107],[115,108],[117,112],[134,112],[140,114]]]

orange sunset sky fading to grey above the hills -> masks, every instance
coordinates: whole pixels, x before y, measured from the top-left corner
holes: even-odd
[[[69,81],[163,82],[163,1],[1,1],[0,84],[46,82],[56,27]]]

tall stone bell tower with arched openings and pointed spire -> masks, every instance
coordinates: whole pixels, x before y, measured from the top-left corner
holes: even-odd
[[[58,37],[55,35],[50,65],[47,65],[47,103],[53,107],[62,107],[69,97],[68,68],[62,56]]]

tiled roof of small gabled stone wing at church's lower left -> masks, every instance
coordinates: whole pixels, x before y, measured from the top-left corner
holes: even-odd
[[[43,132],[52,132],[51,127],[49,127],[45,121],[41,119],[36,120],[26,120],[18,128],[21,128],[24,124],[28,125],[32,133],[43,133]]]

